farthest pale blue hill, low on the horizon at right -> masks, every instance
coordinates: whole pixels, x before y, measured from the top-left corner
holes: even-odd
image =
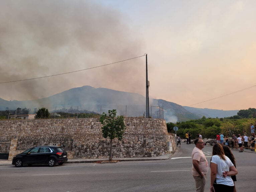
[[[186,107],[183,106],[184,109],[186,109],[187,111],[198,115],[199,117],[203,117],[205,116],[206,118],[224,118],[224,117],[231,117],[234,115],[237,115],[237,112],[239,110],[230,110],[230,111],[223,111],[223,110],[217,110],[217,109],[200,109],[200,108],[194,108],[194,107]]]

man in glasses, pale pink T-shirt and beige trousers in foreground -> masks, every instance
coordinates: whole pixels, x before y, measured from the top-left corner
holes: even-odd
[[[204,192],[206,184],[206,174],[209,170],[207,159],[202,152],[205,143],[202,139],[195,140],[196,147],[192,151],[192,175],[196,182],[196,191]]]

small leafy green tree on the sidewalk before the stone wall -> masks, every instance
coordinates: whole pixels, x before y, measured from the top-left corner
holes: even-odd
[[[103,125],[102,134],[104,138],[110,138],[110,152],[109,152],[109,161],[112,160],[112,146],[113,146],[113,139],[118,138],[118,140],[123,139],[123,134],[125,130],[124,125],[124,117],[117,116],[116,117],[116,110],[109,110],[108,115],[102,113],[100,117],[100,122]]]

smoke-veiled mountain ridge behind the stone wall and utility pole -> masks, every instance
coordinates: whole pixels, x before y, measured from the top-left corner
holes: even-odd
[[[0,98],[0,110],[6,110],[6,108],[14,110],[19,107],[22,109],[31,109],[32,111],[35,108],[39,109],[41,107],[45,107],[49,111],[53,112],[56,107],[57,111],[60,111],[62,108],[71,108],[72,110],[70,111],[77,111],[75,109],[77,109],[77,106],[79,106],[79,110],[81,111],[87,110],[100,114],[102,112],[106,113],[109,109],[117,109],[119,115],[124,115],[127,117],[143,117],[145,115],[145,100],[145,97],[137,93],[123,92],[107,88],[82,86],[63,91],[48,98],[42,98],[37,100],[6,101]],[[162,118],[163,115],[166,122],[181,122],[191,119],[199,119],[203,116],[223,117],[223,115],[220,115],[220,113],[217,112],[226,112],[222,110],[212,110],[216,112],[214,114],[204,111],[206,109],[188,107],[186,107],[187,109],[185,109],[178,104],[161,99],[150,99],[149,105],[150,116],[152,116],[153,118]],[[163,114],[160,114],[158,106],[163,107]],[[193,111],[193,109],[195,110]],[[233,115],[234,114],[229,116]]]

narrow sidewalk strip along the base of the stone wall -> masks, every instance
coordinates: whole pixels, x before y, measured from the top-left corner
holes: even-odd
[[[113,158],[113,160],[117,161],[152,161],[152,160],[166,160],[172,156],[172,153],[161,155],[157,157],[131,157],[131,158]],[[66,163],[95,163],[97,161],[108,160],[108,158],[104,159],[69,159]],[[6,159],[0,159],[1,165],[12,165],[12,161],[8,161]]]

